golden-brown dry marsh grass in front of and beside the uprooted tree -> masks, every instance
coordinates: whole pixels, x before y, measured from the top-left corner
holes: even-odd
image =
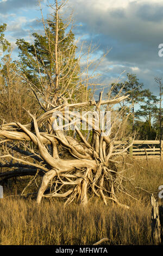
[[[131,163],[131,162],[130,162]],[[126,175],[136,187],[154,192],[163,185],[163,163],[145,160],[134,162]],[[5,197],[0,199],[0,245],[93,245],[108,237],[109,245],[152,245],[151,194],[127,185],[137,200],[120,194],[121,202],[130,206],[123,210],[110,203],[90,200],[86,210],[76,204],[63,208],[58,200]]]

